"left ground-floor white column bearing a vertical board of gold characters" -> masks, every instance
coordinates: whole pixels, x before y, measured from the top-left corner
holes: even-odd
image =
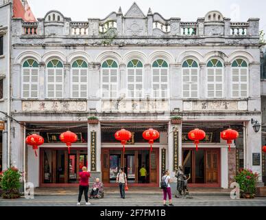
[[[95,137],[94,143],[92,135]],[[92,151],[94,147],[95,153]],[[92,164],[92,156],[95,157],[95,164]],[[101,125],[99,123],[88,124],[88,170],[91,171],[93,177],[101,179]]]

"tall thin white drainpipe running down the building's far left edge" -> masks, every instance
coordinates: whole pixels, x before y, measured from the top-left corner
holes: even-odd
[[[10,65],[11,65],[11,59],[10,59],[10,54],[11,54],[11,48],[10,48],[10,45],[11,45],[10,44],[11,13],[12,13],[12,2],[10,1],[9,12],[8,12],[8,34],[7,34],[7,36],[8,36],[8,42],[7,42],[7,48],[8,48],[8,53],[7,53],[8,112],[7,113],[10,116],[11,116],[11,114],[10,114],[11,113],[11,111],[10,111],[10,104],[11,104],[11,102],[10,102],[10,98],[11,98],[10,97],[11,96],[11,93],[10,93],[10,87],[11,87],[11,85],[10,85],[10,82],[11,82],[11,80],[10,80],[10,78],[11,78],[11,74],[10,74]],[[8,117],[8,168],[10,167],[10,164],[11,164],[11,162],[10,162],[10,137],[11,137],[10,132],[11,132],[11,120]]]

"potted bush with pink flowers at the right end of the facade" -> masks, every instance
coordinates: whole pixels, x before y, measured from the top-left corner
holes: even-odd
[[[241,168],[234,179],[239,184],[241,198],[253,199],[255,197],[258,173],[253,173],[250,169]]]

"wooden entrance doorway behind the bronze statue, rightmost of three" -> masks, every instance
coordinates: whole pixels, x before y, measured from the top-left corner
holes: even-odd
[[[219,148],[182,150],[184,174],[189,176],[191,186],[220,186],[220,150]]]

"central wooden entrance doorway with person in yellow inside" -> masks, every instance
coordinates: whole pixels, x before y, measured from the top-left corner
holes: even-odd
[[[122,149],[102,148],[101,162],[104,184],[115,184],[117,173],[120,168],[124,168],[128,184],[158,185],[158,148],[154,148],[152,152],[149,148],[127,148],[125,152]],[[144,177],[141,171],[146,174]]]

